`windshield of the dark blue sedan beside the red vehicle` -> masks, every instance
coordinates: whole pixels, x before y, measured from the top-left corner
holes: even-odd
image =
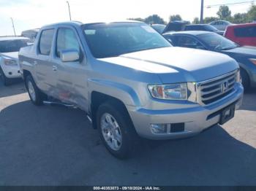
[[[197,37],[206,44],[211,50],[230,50],[238,45],[219,34],[200,34]]]

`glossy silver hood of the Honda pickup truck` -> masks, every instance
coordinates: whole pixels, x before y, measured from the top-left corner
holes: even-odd
[[[157,74],[162,83],[200,82],[239,67],[227,55],[183,47],[143,50],[99,60]]]

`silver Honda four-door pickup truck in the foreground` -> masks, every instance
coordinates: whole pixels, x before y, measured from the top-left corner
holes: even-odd
[[[83,109],[116,157],[138,135],[176,139],[227,122],[244,91],[232,58],[172,47],[136,21],[45,26],[19,60],[31,101]]]

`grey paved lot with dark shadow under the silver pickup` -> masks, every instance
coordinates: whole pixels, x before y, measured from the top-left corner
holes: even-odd
[[[0,84],[0,185],[256,185],[256,90],[236,117],[190,139],[111,156],[78,109],[31,104]]]

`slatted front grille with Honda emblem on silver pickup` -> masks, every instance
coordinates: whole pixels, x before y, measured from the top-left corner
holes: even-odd
[[[198,97],[201,104],[211,104],[230,94],[236,83],[237,71],[221,77],[197,83]]]

